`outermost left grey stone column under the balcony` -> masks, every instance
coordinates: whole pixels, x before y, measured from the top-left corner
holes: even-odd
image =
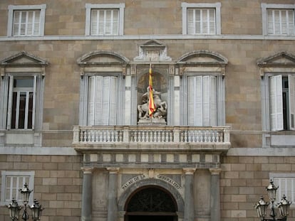
[[[81,168],[83,171],[82,214],[81,221],[91,221],[92,214],[92,167]]]

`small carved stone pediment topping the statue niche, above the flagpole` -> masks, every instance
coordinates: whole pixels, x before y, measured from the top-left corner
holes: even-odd
[[[167,56],[167,46],[157,40],[149,40],[139,46],[139,55],[133,58],[134,61],[142,62],[165,62],[172,59]]]

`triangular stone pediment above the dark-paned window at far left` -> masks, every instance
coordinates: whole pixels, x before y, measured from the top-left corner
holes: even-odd
[[[1,66],[46,66],[48,62],[26,51],[21,51],[15,55],[0,60]]]

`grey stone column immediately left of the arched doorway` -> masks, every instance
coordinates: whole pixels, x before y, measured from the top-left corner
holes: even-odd
[[[108,173],[108,219],[107,221],[117,221],[117,188],[119,168],[107,168]]]

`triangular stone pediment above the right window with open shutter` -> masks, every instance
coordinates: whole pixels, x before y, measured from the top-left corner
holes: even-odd
[[[285,51],[258,60],[259,67],[290,67],[295,66],[295,55]]]

